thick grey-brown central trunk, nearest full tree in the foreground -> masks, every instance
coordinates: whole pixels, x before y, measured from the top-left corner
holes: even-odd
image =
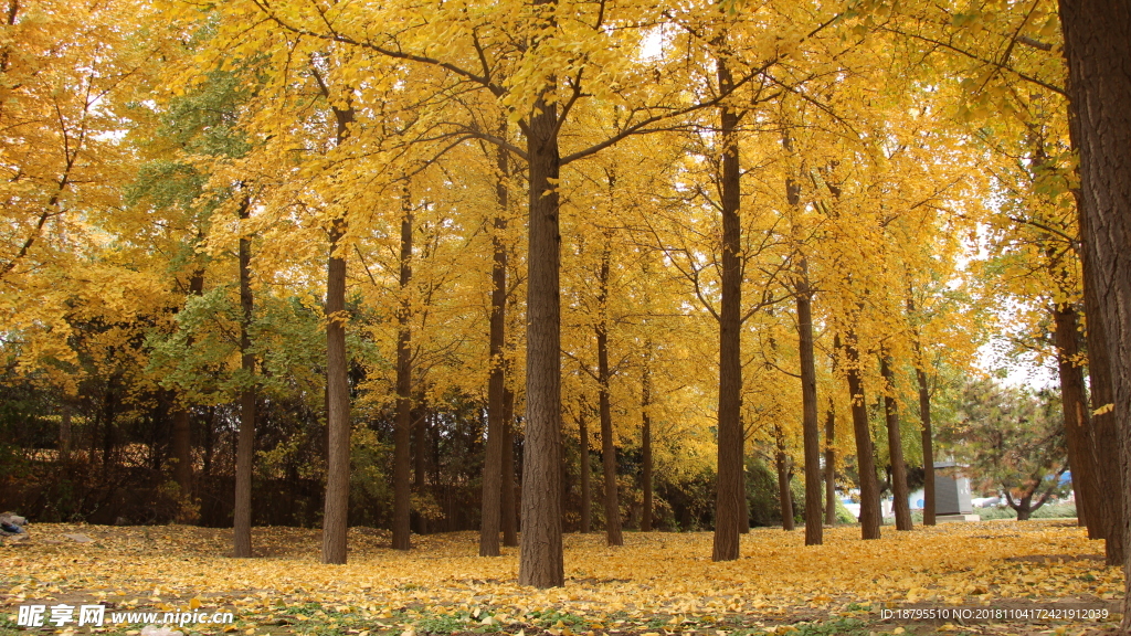
[[[533,45],[537,46],[537,41]],[[547,87],[535,102],[527,126],[526,439],[518,582],[543,588],[566,584],[561,518],[561,237],[558,230],[561,155],[558,105],[547,101],[550,87],[555,84],[556,78],[546,78]]]

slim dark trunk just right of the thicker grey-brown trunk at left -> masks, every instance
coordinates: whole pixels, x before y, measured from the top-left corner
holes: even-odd
[[[409,461],[413,427],[413,352],[412,299],[413,282],[413,207],[405,186],[400,217],[400,311],[397,312],[397,423],[392,439],[392,549],[412,547],[412,484]],[[424,456],[424,436],[416,433],[416,481],[423,479],[420,459]],[[420,485],[417,484],[417,488]]]

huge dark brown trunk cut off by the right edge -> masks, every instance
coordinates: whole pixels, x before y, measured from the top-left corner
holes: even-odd
[[[1123,0],[1062,0],[1060,18],[1069,130],[1080,155],[1077,200],[1093,398],[1100,412],[1093,419],[1095,465],[1102,491],[1122,493],[1111,505],[1107,497],[1088,501],[1088,514],[1105,517],[1107,564],[1124,567],[1122,628],[1131,631],[1131,559],[1124,558],[1131,521],[1131,7]]]

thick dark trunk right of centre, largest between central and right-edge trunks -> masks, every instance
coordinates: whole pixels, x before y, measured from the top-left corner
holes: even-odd
[[[716,60],[719,91],[731,92],[734,78],[725,57]],[[715,500],[715,542],[711,559],[739,558],[742,525],[744,435],[742,421],[742,225],[740,220],[741,173],[739,171],[739,112],[724,103],[719,108],[723,145],[722,216],[723,281],[719,309],[718,378],[718,491]]]

